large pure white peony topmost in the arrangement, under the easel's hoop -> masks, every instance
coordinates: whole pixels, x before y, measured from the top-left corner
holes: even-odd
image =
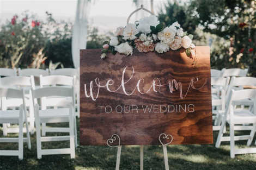
[[[138,30],[139,32],[149,34],[151,32],[150,26],[155,27],[157,24],[159,24],[159,20],[155,15],[144,17],[139,20]]]

